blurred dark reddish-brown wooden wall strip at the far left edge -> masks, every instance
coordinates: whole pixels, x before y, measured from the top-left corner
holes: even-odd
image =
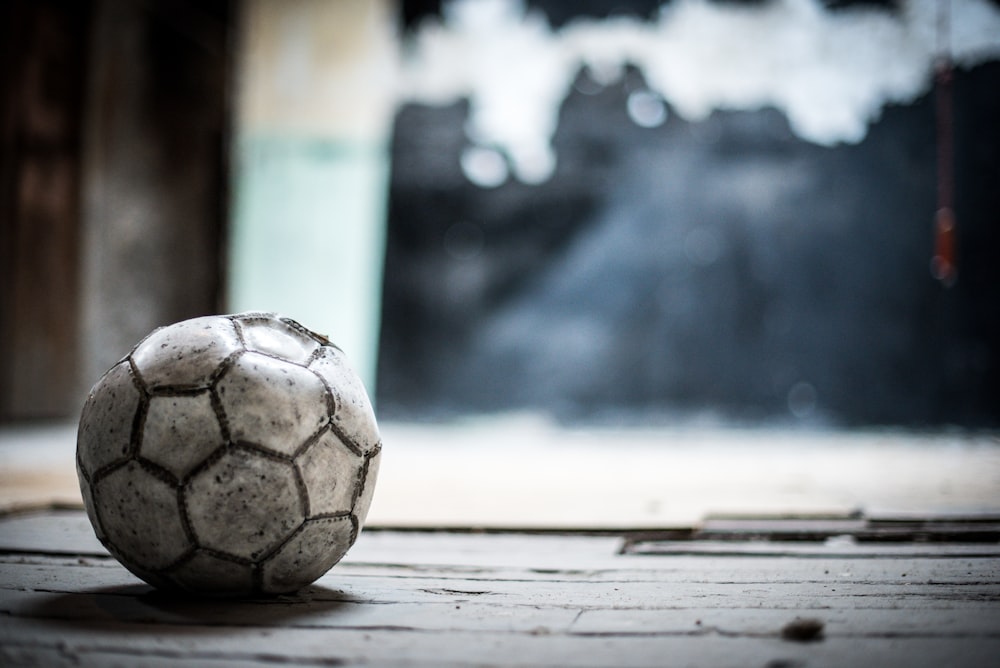
[[[88,2],[0,7],[0,419],[75,403],[90,19]]]

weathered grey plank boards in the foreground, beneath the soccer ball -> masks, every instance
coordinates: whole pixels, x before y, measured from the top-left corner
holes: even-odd
[[[989,666],[1000,559],[622,555],[613,536],[363,533],[296,596],[172,598],[79,511],[0,519],[0,664]],[[959,546],[961,547],[961,546]],[[813,642],[784,640],[797,618]]]

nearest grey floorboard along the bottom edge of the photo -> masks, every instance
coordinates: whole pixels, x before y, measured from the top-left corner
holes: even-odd
[[[653,636],[572,635],[538,630],[496,633],[409,629],[206,628],[82,621],[39,628],[12,619],[0,627],[0,646],[33,659],[32,651],[58,648],[82,665],[95,656],[118,657],[119,665],[169,658],[174,665],[211,659],[246,664],[292,665],[479,665],[479,666],[921,666],[991,665],[1000,639],[894,637],[827,638],[816,643],[767,637],[684,633]],[[103,655],[103,656],[102,656]],[[779,663],[780,662],[780,663]],[[29,665],[27,662],[21,665]]]

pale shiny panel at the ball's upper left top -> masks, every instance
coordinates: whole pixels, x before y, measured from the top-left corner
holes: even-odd
[[[150,390],[206,387],[219,364],[240,347],[228,318],[206,316],[156,330],[136,347],[132,361]]]

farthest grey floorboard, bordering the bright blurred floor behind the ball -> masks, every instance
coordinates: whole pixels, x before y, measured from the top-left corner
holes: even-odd
[[[489,577],[513,571],[520,578],[583,576],[592,579],[723,578],[755,582],[783,573],[787,578],[840,581],[961,582],[1000,579],[1000,559],[951,552],[949,546],[889,546],[896,559],[866,559],[863,553],[828,554],[804,561],[794,555],[755,554],[727,543],[729,558],[706,559],[677,551],[660,556],[619,555],[621,539],[614,536],[468,534],[448,532],[363,531],[357,544],[337,567],[377,565],[379,573],[433,571],[465,576],[476,571]],[[934,548],[934,551],[930,550]],[[977,551],[981,548],[976,547]],[[82,511],[39,511],[0,518],[0,552],[107,556]],[[921,556],[921,555],[924,556]],[[742,555],[742,558],[739,556]],[[927,556],[933,555],[933,556]],[[964,559],[944,559],[942,555]],[[725,554],[716,554],[725,557]],[[393,567],[397,567],[393,570]],[[440,569],[439,569],[440,570]],[[656,575],[650,575],[650,573]],[[694,578],[694,580],[692,580]]]

